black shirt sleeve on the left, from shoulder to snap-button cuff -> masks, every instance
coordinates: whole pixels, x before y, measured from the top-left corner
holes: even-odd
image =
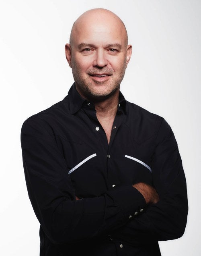
[[[129,215],[146,205],[144,197],[130,185],[96,198],[76,200],[55,134],[41,118],[31,117],[23,123],[21,146],[29,198],[52,243],[73,243],[105,234],[125,225]]]

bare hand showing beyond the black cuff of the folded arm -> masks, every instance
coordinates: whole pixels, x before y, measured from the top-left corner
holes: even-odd
[[[159,201],[158,193],[154,187],[143,182],[134,184],[133,187],[135,187],[142,196],[144,196],[147,204],[156,204]]]

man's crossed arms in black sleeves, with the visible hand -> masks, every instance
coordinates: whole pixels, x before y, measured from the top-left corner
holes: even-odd
[[[185,175],[170,127],[163,121],[160,129],[152,162],[154,187],[122,185],[76,200],[65,159],[45,122],[25,121],[21,143],[27,189],[51,242],[74,243],[109,233],[137,244],[183,235],[188,210]],[[144,211],[139,213],[140,209]],[[135,212],[139,214],[133,216]]]

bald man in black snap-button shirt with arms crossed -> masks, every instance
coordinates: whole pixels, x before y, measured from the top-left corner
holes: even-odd
[[[89,10],[65,50],[75,83],[21,133],[40,255],[161,255],[158,241],[185,230],[185,175],[170,126],[119,92],[131,57],[125,26]]]

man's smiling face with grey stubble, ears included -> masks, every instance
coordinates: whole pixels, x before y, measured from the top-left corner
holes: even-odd
[[[76,89],[90,100],[104,100],[119,91],[130,56],[125,29],[114,17],[85,18],[74,29],[71,46],[66,45]]]

